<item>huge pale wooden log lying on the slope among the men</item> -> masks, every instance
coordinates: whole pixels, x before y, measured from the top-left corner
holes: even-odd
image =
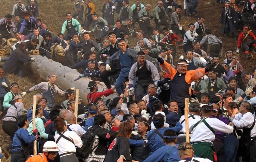
[[[87,77],[82,77],[81,79],[74,81],[76,77],[81,75],[76,69],[71,69],[67,66],[63,66],[62,64],[52,61],[47,57],[42,57],[40,55],[31,55],[31,57],[36,57],[35,62],[29,63],[29,69],[36,75],[40,76],[43,80],[46,80],[49,74],[56,74],[57,82],[56,85],[62,89],[67,90],[72,87],[78,88],[80,91],[80,98],[83,99],[81,102],[83,104],[87,104],[87,94],[90,93],[90,90],[87,89],[88,83],[91,79]],[[103,91],[103,88],[106,89],[104,83],[98,84],[98,90]],[[107,97],[113,98],[116,97],[116,94],[112,94]]]

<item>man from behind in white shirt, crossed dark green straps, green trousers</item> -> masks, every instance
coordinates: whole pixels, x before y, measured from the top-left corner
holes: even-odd
[[[212,143],[215,139],[214,133],[215,131],[232,133],[234,129],[233,124],[230,123],[230,125],[227,125],[219,119],[210,118],[212,108],[209,105],[202,106],[200,110],[201,118],[197,118],[189,123],[189,132],[192,133],[190,142],[197,157],[217,161]],[[186,133],[186,127],[183,127],[183,131]]]

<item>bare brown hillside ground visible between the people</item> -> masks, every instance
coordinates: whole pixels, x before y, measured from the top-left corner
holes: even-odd
[[[48,29],[53,32],[54,35],[57,35],[61,31],[61,27],[63,22],[65,21],[65,13],[66,12],[73,12],[73,2],[70,0],[60,0],[60,1],[53,1],[53,0],[37,0],[38,1],[38,8],[39,8],[39,15],[43,20],[43,23],[48,26]],[[176,1],[181,6],[183,5],[183,0],[177,0]],[[210,2],[212,4],[212,7],[205,8],[204,3]],[[23,3],[26,5],[27,0],[23,0]],[[102,5],[104,3],[103,0],[97,1],[97,0],[91,0],[91,3],[94,3],[96,5],[96,11],[98,15],[100,15]],[[135,3],[135,0],[130,0],[130,6]],[[156,6],[157,1],[156,0],[141,0],[141,3],[146,5],[147,3],[151,4],[153,7],[150,11],[151,14],[154,13],[154,7]],[[0,18],[4,17],[4,15],[8,13],[12,13],[12,7],[16,4],[16,0],[2,0],[1,3],[1,13]],[[237,40],[233,40],[232,38],[224,39],[224,37],[220,34],[220,13],[223,9],[222,7],[224,4],[217,4],[215,1],[210,0],[200,0],[197,10],[200,12],[199,16],[203,16],[205,18],[205,27],[210,28],[212,30],[212,34],[215,34],[218,38],[220,38],[221,41],[223,41],[223,51],[225,51],[226,48],[231,47],[236,50],[236,43]],[[242,6],[238,6],[242,9]],[[174,11],[174,9],[173,9]],[[183,12],[183,11],[182,11]],[[117,14],[115,14],[115,17],[117,17]],[[188,30],[188,24],[189,23],[195,23],[197,21],[197,18],[192,16],[191,18],[183,16],[181,18],[181,25],[184,27],[185,30]],[[154,26],[154,20],[151,20],[151,24]],[[136,29],[139,29],[138,24],[135,25]],[[254,29],[254,28],[253,28]],[[153,33],[152,33],[153,34]],[[238,34],[236,32],[236,35],[238,37]],[[93,33],[91,34],[91,37],[95,39],[95,36]],[[137,42],[137,37],[130,37],[129,44],[131,46],[135,46]],[[180,55],[184,55],[182,48],[178,48],[177,50],[177,59],[175,60],[174,64],[177,63],[177,60]],[[245,71],[251,72],[252,67],[255,66],[255,53],[253,53],[253,58],[249,61],[245,60],[245,56],[242,54],[240,55],[240,63],[242,63]],[[222,56],[221,60],[225,59],[225,55]],[[222,62],[222,61],[221,61]],[[43,81],[38,76],[32,74],[28,69],[25,70],[24,78],[19,79],[17,76],[13,74],[5,74],[6,77],[10,79],[10,82],[17,82],[20,85],[19,92],[24,92],[28,90],[31,86],[36,85]],[[39,92],[39,91],[38,91]],[[33,104],[33,95],[35,95],[37,92],[29,93],[24,97],[24,105],[26,109],[28,109]],[[63,97],[58,97],[57,104],[60,104],[64,100]],[[7,136],[3,130],[2,130],[2,124],[0,122],[0,146],[3,147],[5,144],[7,144],[9,140],[9,136]],[[9,159],[3,158],[2,161],[10,161]]]

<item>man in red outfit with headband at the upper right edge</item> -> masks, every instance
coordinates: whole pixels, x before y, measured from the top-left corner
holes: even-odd
[[[244,26],[244,31],[238,36],[236,53],[239,53],[241,46],[244,49],[246,59],[249,60],[252,57],[252,55],[249,56],[250,48],[256,48],[256,37],[247,25]]]

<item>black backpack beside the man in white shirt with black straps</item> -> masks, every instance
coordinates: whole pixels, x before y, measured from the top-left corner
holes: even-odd
[[[82,158],[87,158],[92,153],[92,151],[97,147],[96,145],[92,148],[95,140],[95,136],[96,136],[96,133],[94,133],[93,128],[90,128],[89,130],[87,130],[85,134],[83,134],[83,136],[81,136],[81,140],[83,141],[83,146],[81,148],[76,149],[76,153],[78,156]]]

